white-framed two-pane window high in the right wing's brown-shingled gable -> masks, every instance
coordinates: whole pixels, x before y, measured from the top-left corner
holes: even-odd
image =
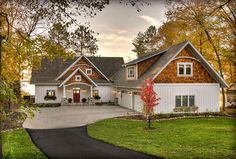
[[[177,75],[178,76],[193,76],[193,63],[191,62],[178,62],[177,63]]]

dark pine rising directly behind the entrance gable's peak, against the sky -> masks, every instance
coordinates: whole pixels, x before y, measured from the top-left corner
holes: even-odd
[[[97,41],[94,31],[80,25],[72,34],[72,49],[77,55],[95,55],[98,50]]]

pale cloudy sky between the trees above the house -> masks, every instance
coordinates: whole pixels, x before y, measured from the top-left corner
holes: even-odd
[[[123,57],[126,62],[136,58],[132,40],[138,32],[144,32],[150,25],[158,28],[166,20],[165,1],[146,2],[150,5],[141,6],[137,12],[136,7],[113,0],[94,18],[78,17],[78,22],[89,22],[91,29],[99,33],[97,55]]]

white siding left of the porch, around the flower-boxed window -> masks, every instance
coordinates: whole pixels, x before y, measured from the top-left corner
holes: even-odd
[[[55,90],[56,100],[44,100],[47,90]],[[58,86],[35,86],[35,103],[61,103],[62,88]]]

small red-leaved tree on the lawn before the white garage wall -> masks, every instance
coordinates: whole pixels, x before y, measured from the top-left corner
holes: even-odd
[[[153,90],[152,78],[148,78],[144,81],[144,86],[141,92],[141,99],[143,101],[143,111],[147,115],[148,128],[151,128],[151,118],[153,108],[157,106],[160,98],[157,98],[156,92]]]

